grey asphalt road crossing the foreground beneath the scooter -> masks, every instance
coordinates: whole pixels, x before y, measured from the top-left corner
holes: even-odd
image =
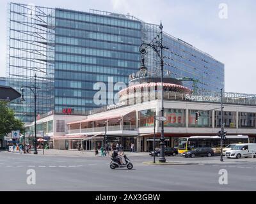
[[[109,168],[109,157],[61,157],[0,152],[1,191],[255,191],[256,159],[187,159],[198,164],[153,166],[152,157],[131,157],[134,170]],[[184,162],[182,157],[168,160]],[[29,169],[36,184],[28,185]],[[219,171],[228,172],[220,185]]]

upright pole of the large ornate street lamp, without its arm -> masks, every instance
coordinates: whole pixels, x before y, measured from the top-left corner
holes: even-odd
[[[162,84],[162,109],[161,109],[161,116],[164,117],[164,87],[163,87],[163,69],[164,69],[164,60],[163,60],[163,25],[162,22],[159,26],[160,28],[160,36],[161,36],[161,84]],[[166,159],[164,157],[164,121],[161,122],[161,138],[160,138],[160,147],[161,153],[159,162],[165,163]]]

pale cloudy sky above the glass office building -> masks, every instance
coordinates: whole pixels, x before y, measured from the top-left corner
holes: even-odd
[[[225,91],[256,94],[255,0],[20,0],[51,8],[89,11],[90,8],[130,13],[209,53],[225,64]],[[0,77],[6,68],[6,0],[0,1]],[[228,18],[219,17],[219,4]]]

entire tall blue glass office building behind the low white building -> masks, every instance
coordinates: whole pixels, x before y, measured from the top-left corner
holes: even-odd
[[[141,43],[154,40],[159,33],[158,25],[105,11],[10,3],[9,14],[8,85],[18,91],[22,85],[33,86],[36,74],[39,114],[71,108],[72,114],[81,115],[113,104],[116,92],[140,67]],[[186,77],[184,84],[192,89],[196,84],[200,94],[216,94],[224,87],[221,62],[167,33],[164,43],[169,47],[164,51],[166,77]],[[152,50],[145,62],[149,73],[159,75],[159,59]],[[95,103],[102,85],[107,94]],[[33,93],[26,90],[24,98],[25,102],[15,101],[12,107],[29,122],[33,120]]]

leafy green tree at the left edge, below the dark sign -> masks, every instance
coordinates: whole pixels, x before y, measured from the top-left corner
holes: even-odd
[[[0,136],[5,136],[17,129],[24,134],[24,123],[15,118],[14,112],[8,107],[7,102],[0,101]]]

